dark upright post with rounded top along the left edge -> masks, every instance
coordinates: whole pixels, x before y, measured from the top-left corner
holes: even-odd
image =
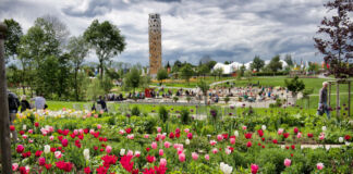
[[[0,145],[1,145],[1,170],[2,173],[12,173],[11,140],[10,140],[10,115],[7,91],[7,75],[4,63],[4,34],[7,28],[0,23]]]

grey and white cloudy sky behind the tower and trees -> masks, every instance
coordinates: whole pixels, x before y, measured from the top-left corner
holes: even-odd
[[[54,15],[72,36],[93,20],[110,21],[125,36],[115,61],[148,64],[148,14],[160,13],[162,59],[197,64],[269,60],[291,53],[300,61],[321,61],[313,37],[327,15],[327,0],[0,0],[0,20],[14,18],[26,32],[37,17]],[[94,60],[94,53],[89,60]]]

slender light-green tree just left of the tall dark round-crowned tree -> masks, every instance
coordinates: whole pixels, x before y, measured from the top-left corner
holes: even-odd
[[[70,52],[70,60],[74,69],[74,89],[75,89],[75,99],[80,100],[80,86],[78,86],[78,71],[88,55],[88,45],[82,36],[71,37],[68,44],[68,50]]]

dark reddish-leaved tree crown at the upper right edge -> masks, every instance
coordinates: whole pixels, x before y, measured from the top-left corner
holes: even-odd
[[[329,74],[336,78],[353,75],[353,22],[350,20],[353,11],[352,1],[334,0],[324,4],[329,11],[337,10],[332,17],[324,17],[319,26],[318,37],[314,38],[315,47],[324,54],[324,60],[330,65]]]

